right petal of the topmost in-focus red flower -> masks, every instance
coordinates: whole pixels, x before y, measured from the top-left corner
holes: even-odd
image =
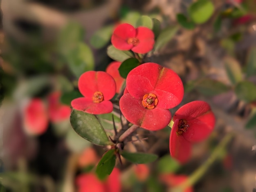
[[[138,27],[136,29],[136,38],[139,40],[139,44],[132,48],[132,51],[138,54],[146,54],[151,51],[155,44],[155,36],[153,31],[147,27]]]

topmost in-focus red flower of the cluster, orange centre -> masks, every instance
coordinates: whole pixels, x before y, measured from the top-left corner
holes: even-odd
[[[146,54],[153,49],[155,39],[154,33],[147,27],[134,28],[124,23],[118,25],[111,37],[113,46],[120,50],[132,50],[138,54]]]

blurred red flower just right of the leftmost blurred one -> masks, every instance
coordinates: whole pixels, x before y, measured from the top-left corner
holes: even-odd
[[[53,123],[58,123],[70,118],[71,109],[68,105],[60,103],[60,97],[61,92],[54,92],[48,96],[49,118]]]

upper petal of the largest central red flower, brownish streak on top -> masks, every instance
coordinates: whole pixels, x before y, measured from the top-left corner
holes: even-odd
[[[171,69],[157,63],[144,63],[132,69],[127,76],[126,86],[135,98],[141,99],[150,92],[156,94],[157,107],[163,109],[177,106],[184,94],[180,77]]]

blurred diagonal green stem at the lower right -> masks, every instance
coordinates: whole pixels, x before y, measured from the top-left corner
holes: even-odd
[[[227,134],[218,144],[218,146],[214,149],[211,156],[207,159],[207,161],[204,162],[203,165],[201,165],[191,176],[189,176],[189,179],[185,182],[178,185],[176,188],[174,188],[172,191],[175,192],[182,192],[184,189],[188,188],[189,186],[193,186],[204,174],[207,172],[211,164],[218,158],[218,156],[221,154],[222,150],[226,145],[229,143],[231,138],[233,137],[232,133]]]

